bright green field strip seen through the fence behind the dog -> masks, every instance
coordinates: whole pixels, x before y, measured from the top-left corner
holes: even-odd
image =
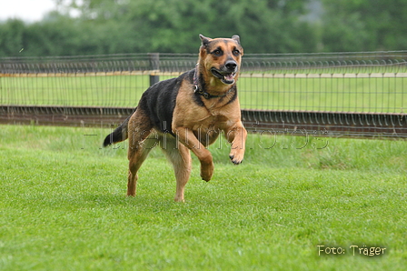
[[[405,80],[242,77],[238,85],[243,109],[402,113]],[[134,107],[148,85],[148,75],[0,77],[0,105]]]

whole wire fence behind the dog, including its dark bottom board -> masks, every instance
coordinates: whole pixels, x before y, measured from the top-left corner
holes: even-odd
[[[39,124],[119,121],[149,85],[194,68],[196,61],[189,54],[0,58],[0,122],[25,123],[30,115]],[[407,137],[406,78],[407,51],[247,54],[238,84],[251,127]]]

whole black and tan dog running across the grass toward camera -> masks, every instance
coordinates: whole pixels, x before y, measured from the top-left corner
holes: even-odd
[[[203,180],[211,180],[213,157],[206,147],[222,131],[231,144],[232,163],[243,161],[247,132],[236,87],[243,56],[240,38],[200,38],[196,67],[150,86],[134,113],[104,139],[104,146],[129,139],[127,196],[135,196],[137,171],[158,144],[174,166],[175,201],[184,201],[191,174],[190,151],[201,163]]]

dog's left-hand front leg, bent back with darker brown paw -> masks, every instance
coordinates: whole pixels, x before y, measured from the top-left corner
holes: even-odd
[[[201,162],[201,177],[204,181],[209,182],[213,176],[213,158],[204,145],[196,138],[191,129],[176,127],[174,133],[177,140],[189,148]]]

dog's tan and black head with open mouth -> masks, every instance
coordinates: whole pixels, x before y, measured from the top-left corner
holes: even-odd
[[[199,35],[202,41],[199,64],[204,65],[206,75],[233,85],[237,80],[242,61],[243,47],[239,35],[232,38],[209,38]]]

